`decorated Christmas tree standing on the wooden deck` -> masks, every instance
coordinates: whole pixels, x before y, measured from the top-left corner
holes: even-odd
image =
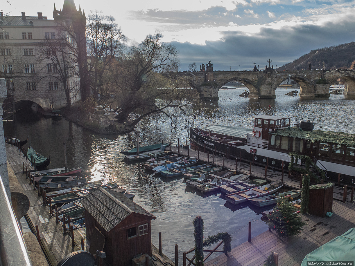
[[[267,215],[268,225],[271,230],[278,233],[280,237],[289,237],[299,234],[306,224],[300,216],[295,213],[294,207],[283,197],[274,207],[271,214]]]

